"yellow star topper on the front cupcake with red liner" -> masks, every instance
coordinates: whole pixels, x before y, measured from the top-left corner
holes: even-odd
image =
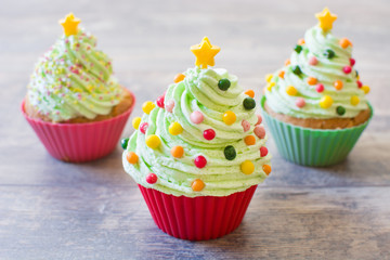
[[[221,48],[217,46],[211,46],[207,37],[203,38],[199,44],[191,47],[191,51],[196,56],[195,65],[200,66],[202,68],[207,68],[207,66],[213,66],[213,57],[220,50]]]

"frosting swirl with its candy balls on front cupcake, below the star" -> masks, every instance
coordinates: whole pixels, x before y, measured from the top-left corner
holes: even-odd
[[[134,133],[123,141],[125,170],[145,187],[226,196],[271,172],[253,92],[244,93],[226,69],[200,65],[178,75],[156,102],[145,102]]]

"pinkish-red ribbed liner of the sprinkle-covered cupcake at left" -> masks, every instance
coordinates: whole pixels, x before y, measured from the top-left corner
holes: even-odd
[[[52,123],[30,118],[25,112],[25,101],[22,102],[22,113],[31,126],[47,151],[54,158],[83,162],[108,155],[118,144],[126,122],[134,108],[135,96],[132,96],[131,107],[114,118],[86,123]]]

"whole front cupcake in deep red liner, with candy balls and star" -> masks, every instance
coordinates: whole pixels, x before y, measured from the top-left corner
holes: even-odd
[[[136,130],[122,142],[122,162],[158,227],[200,240],[239,225],[271,172],[271,156],[253,91],[244,92],[226,69],[208,67],[220,48],[206,37],[191,51],[196,67],[143,104]]]

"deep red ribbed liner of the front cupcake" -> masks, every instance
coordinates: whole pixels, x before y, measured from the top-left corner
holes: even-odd
[[[208,240],[237,229],[257,185],[224,197],[177,197],[142,185],[139,187],[161,231],[181,239]]]

